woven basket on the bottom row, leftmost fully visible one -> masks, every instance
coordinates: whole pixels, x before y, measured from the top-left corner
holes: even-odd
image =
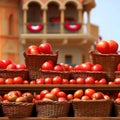
[[[2,103],[3,116],[5,117],[30,117],[34,103],[8,102]]]

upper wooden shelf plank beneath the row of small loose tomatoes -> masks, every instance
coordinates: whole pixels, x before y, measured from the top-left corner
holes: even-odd
[[[102,91],[119,91],[120,85],[78,85],[78,84],[66,84],[66,85],[24,85],[24,84],[13,84],[13,85],[0,85],[0,91],[9,91],[9,90],[29,90],[29,91],[39,91],[43,89],[52,89],[59,87],[62,90],[77,90],[77,89],[86,89],[93,88],[95,90]]]

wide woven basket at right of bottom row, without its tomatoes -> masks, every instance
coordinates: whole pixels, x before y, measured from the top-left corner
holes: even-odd
[[[112,101],[109,100],[80,100],[71,103],[75,117],[111,116]]]

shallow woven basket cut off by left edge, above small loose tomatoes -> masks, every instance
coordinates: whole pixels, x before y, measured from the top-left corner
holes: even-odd
[[[28,70],[0,70],[0,77],[6,79],[6,78],[14,78],[20,76],[24,80],[28,80]]]

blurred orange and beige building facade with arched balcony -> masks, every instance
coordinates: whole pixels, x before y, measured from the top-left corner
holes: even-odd
[[[29,45],[49,42],[58,62],[89,61],[99,37],[90,22],[95,6],[95,0],[0,0],[0,59],[22,63]]]

